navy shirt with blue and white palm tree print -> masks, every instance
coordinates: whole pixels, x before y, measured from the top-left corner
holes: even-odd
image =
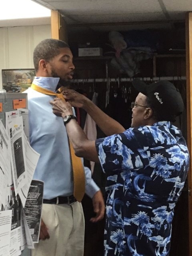
[[[105,256],[167,256],[189,153],[170,122],[96,140],[107,174]]]

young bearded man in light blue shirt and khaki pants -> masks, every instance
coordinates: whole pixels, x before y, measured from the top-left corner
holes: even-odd
[[[69,46],[60,40],[46,39],[34,50],[35,86],[56,92],[72,78],[74,64]],[[40,242],[32,256],[83,256],[84,215],[82,205],[73,195],[73,172],[68,136],[63,118],[52,113],[46,95],[28,88],[30,145],[40,153],[34,179],[44,181],[44,204]],[[92,198],[96,216],[104,216],[104,200],[100,189],[85,170],[85,192]]]

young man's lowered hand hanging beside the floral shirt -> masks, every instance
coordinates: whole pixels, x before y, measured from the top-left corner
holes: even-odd
[[[94,194],[92,198],[92,202],[93,202],[93,209],[94,209],[94,212],[96,213],[96,216],[91,218],[90,221],[97,222],[103,219],[104,213],[105,213],[104,199],[100,190]]]

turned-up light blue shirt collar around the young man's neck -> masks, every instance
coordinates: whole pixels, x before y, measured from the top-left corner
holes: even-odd
[[[59,80],[59,77],[35,76],[33,84],[41,86],[42,88],[45,88],[47,90],[51,90],[52,92],[55,92]]]

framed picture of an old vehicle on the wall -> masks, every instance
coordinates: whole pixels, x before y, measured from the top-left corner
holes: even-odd
[[[24,92],[28,89],[35,76],[35,70],[26,69],[2,69],[3,89],[6,92]]]

